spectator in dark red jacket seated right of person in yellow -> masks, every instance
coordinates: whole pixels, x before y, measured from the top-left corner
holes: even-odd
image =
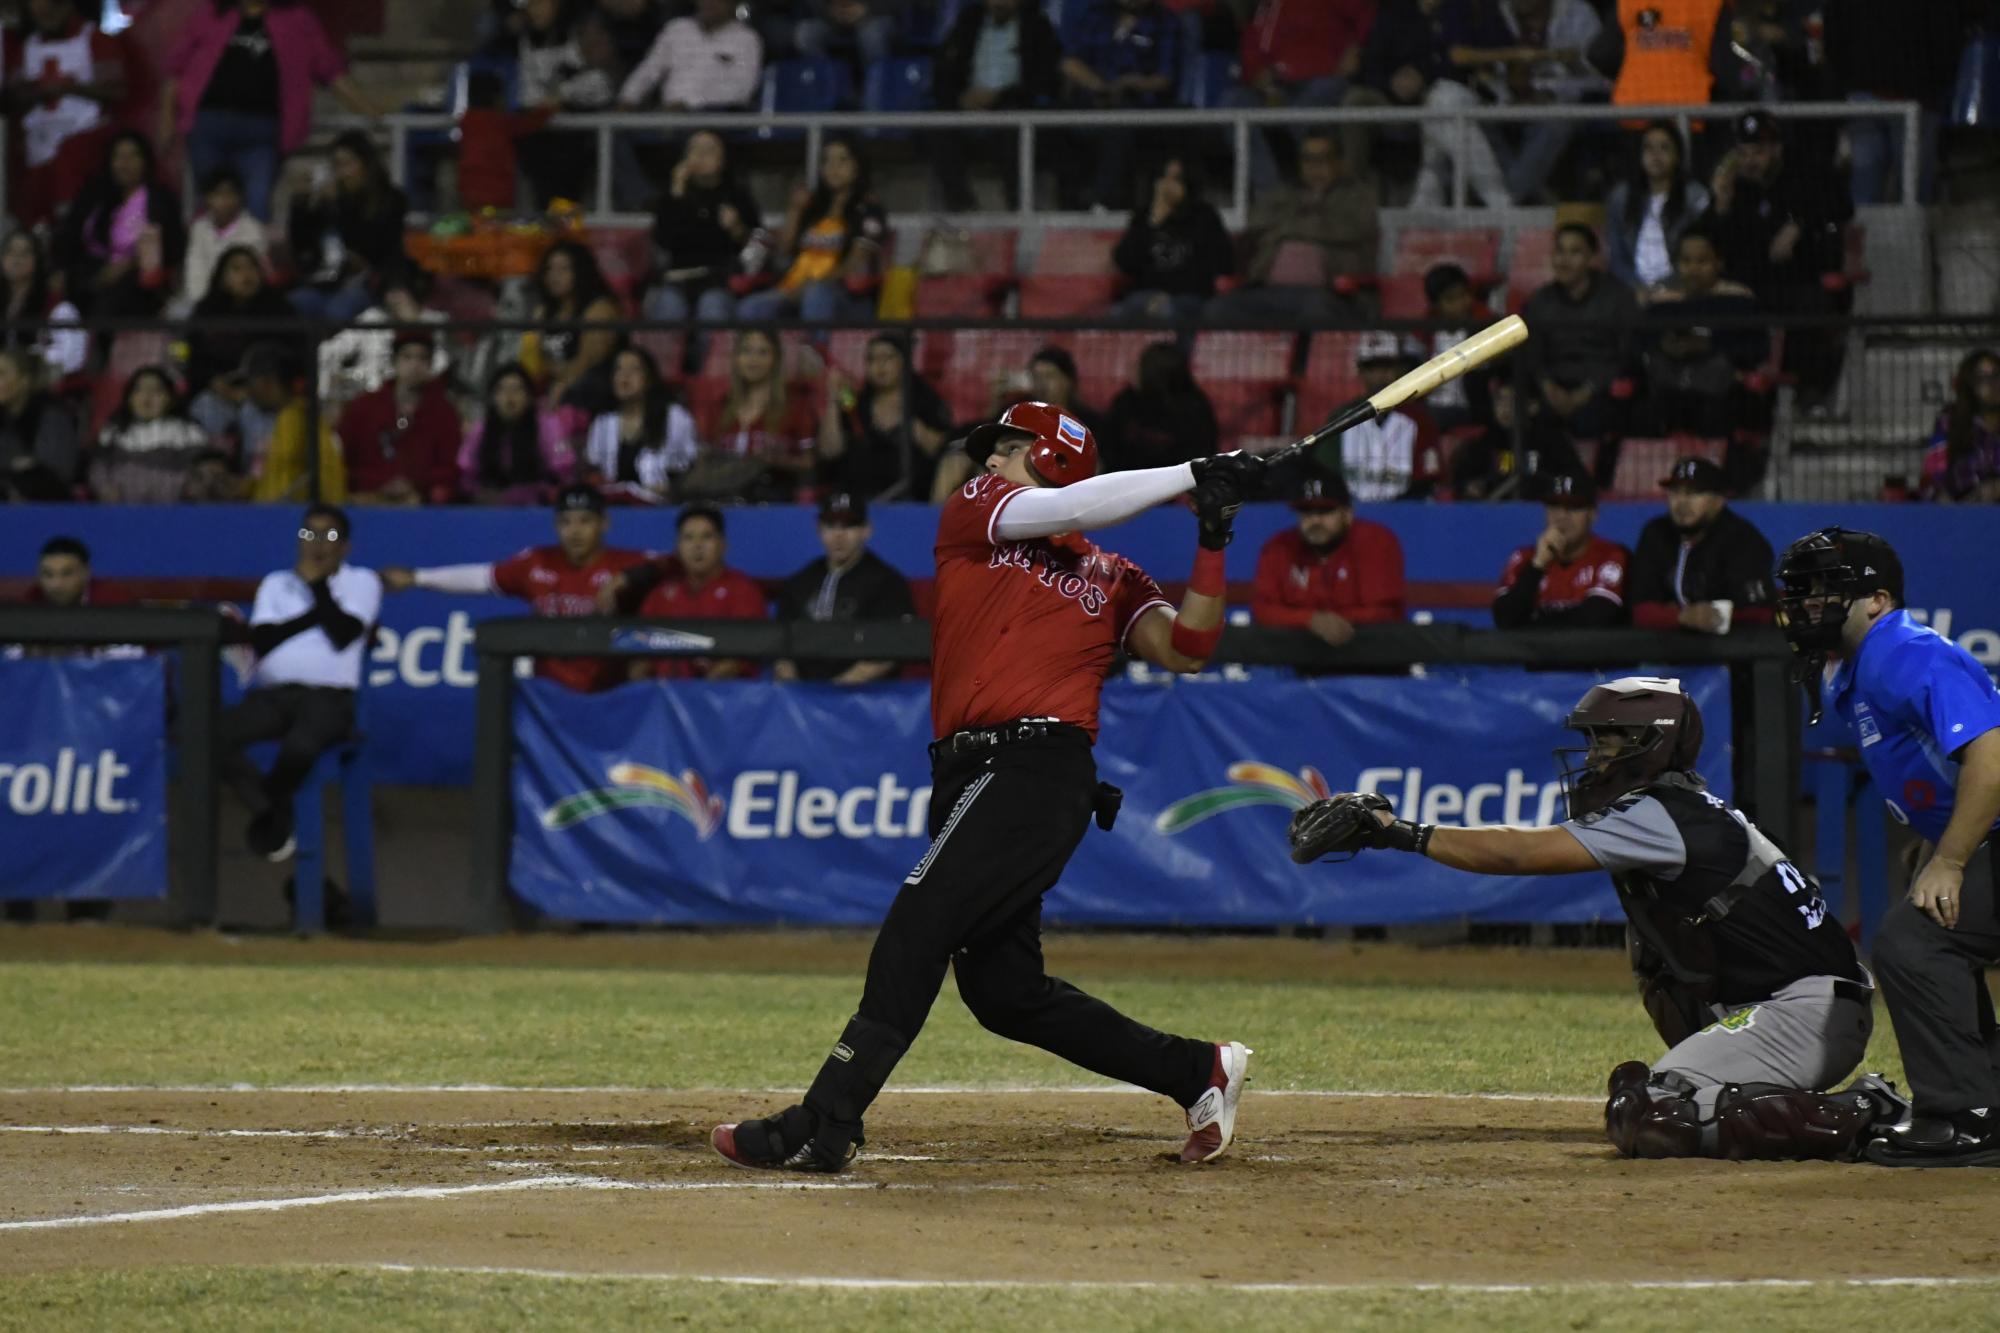
[[[374,504],[444,504],[458,490],[462,424],[432,378],[428,332],[396,334],[396,374],[340,412],[334,434],[348,464],[348,492]]]

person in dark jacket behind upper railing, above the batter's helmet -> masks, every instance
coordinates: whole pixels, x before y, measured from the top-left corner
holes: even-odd
[[[958,12],[958,22],[938,42],[930,76],[938,110],[1020,110],[1048,106],[1062,92],[1062,42],[1056,26],[1028,0],[980,0]],[[936,136],[932,160],[938,190],[948,212],[970,212],[972,186],[966,162],[984,152],[986,132],[946,132]],[[1006,138],[1014,142],[1012,134]],[[1002,158],[1008,160],[1008,158]],[[1012,172],[1002,172],[1012,194]]]

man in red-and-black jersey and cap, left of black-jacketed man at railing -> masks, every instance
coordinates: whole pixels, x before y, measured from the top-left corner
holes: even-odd
[[[1598,486],[1582,472],[1540,478],[1542,534],[1508,556],[1494,588],[1494,628],[1596,628],[1626,622],[1632,552],[1590,530]]]

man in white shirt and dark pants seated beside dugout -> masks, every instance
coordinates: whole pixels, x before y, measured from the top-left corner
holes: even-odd
[[[250,807],[246,843],[270,861],[294,851],[292,793],[320,755],[354,735],[354,695],[382,612],[382,580],[348,564],[348,516],[314,504],[298,526],[298,562],[264,576],[250,610],[256,677],[220,725],[222,777]],[[270,773],[244,753],[278,743]]]

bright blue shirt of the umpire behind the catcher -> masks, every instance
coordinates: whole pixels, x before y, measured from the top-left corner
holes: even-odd
[[[1986,669],[1908,610],[1892,610],[1840,662],[1826,703],[1890,813],[1930,843],[1944,837],[1958,797],[1952,755],[2000,727],[2000,691]]]

